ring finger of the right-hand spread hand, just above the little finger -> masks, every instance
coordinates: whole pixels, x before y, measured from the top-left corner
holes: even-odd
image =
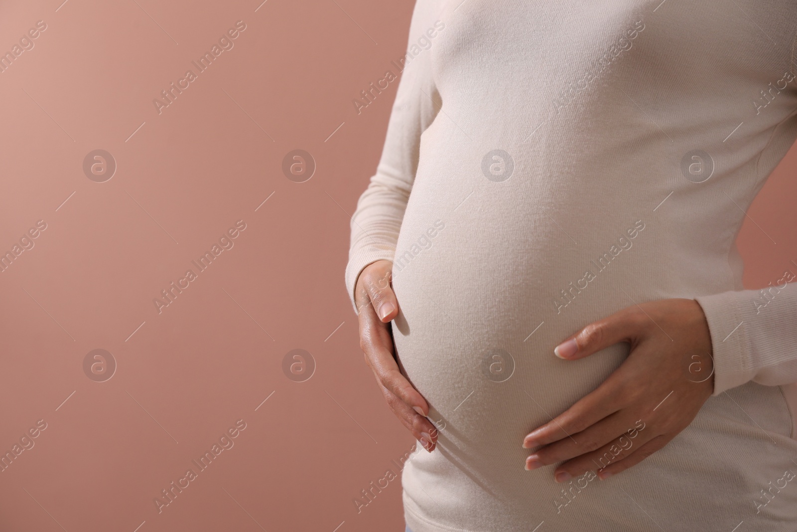
[[[642,437],[646,439],[640,439]],[[643,459],[664,447],[669,442],[669,439],[664,435],[645,435],[642,433],[637,436],[636,440],[631,440],[631,442],[632,445],[627,448],[619,447],[618,443],[611,443],[598,451],[565,462],[556,468],[554,478],[556,482],[566,482],[587,471],[597,471],[600,479],[607,479],[611,475],[622,471],[622,469],[627,469],[636,463],[642,462]],[[637,454],[638,456],[636,456]],[[620,464],[626,460],[629,460],[629,462],[620,469]]]

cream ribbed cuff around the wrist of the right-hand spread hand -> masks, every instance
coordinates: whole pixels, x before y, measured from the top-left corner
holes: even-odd
[[[723,292],[695,298],[709,322],[714,352],[714,396],[748,382],[756,374],[748,342],[749,323],[744,319],[742,306],[746,301],[755,309],[748,299],[748,291]]]

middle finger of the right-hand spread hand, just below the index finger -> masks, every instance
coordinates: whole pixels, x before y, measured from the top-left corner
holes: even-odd
[[[537,449],[526,459],[526,469],[531,471],[537,467],[585,455],[622,437],[629,428],[633,427],[634,420],[629,416],[621,415],[620,412],[614,413],[582,432]]]

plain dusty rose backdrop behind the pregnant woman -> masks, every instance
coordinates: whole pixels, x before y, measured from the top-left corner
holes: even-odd
[[[398,481],[352,502],[414,440],[363,364],[343,274],[396,84],[359,115],[351,100],[394,69],[413,2],[62,1],[0,6],[0,51],[46,24],[0,73],[0,251],[47,224],[0,274],[0,451],[46,423],[0,472],[0,530],[402,530]],[[116,160],[104,183],[83,171],[96,149]],[[304,183],[282,171],[294,149],[316,162]],[[795,169],[792,150],[740,234],[749,287],[797,269]],[[84,372],[93,349],[116,361],[109,380]],[[304,382],[283,372],[292,349],[315,361]]]

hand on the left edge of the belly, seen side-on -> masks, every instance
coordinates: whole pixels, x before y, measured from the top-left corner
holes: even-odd
[[[374,372],[387,406],[412,432],[426,451],[434,451],[438,431],[426,418],[429,405],[398,370],[391,320],[398,315],[398,301],[391,286],[393,262],[371,262],[357,278],[355,303],[359,315],[359,346]]]

